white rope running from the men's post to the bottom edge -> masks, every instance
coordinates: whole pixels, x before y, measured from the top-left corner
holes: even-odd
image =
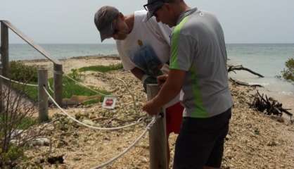
[[[124,149],[124,151],[122,151],[120,154],[118,154],[117,156],[115,156],[114,158],[111,158],[109,161],[107,161],[106,163],[103,163],[101,165],[98,165],[97,167],[91,168],[91,169],[100,169],[100,168],[104,168],[107,165],[110,165],[110,163],[113,163],[114,161],[116,161],[118,158],[120,158],[121,156],[123,156],[124,154],[126,154],[130,149],[132,149],[139,141],[140,139],[142,139],[142,137],[146,134],[146,132],[148,132],[148,130],[151,129],[151,127],[155,124],[156,120],[158,120],[158,118],[160,118],[160,116],[153,116],[151,123],[149,123],[146,127],[146,129],[143,131],[143,133],[137,138],[135,139],[135,141],[133,142],[133,144],[131,144],[129,147],[127,147],[127,149]]]

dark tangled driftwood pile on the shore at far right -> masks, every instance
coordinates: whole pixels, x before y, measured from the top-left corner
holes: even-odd
[[[256,108],[257,111],[260,111],[267,115],[278,115],[281,117],[283,113],[286,113],[290,116],[291,123],[293,123],[293,114],[289,112],[289,110],[291,109],[283,108],[282,106],[283,104],[279,103],[279,101],[276,101],[271,97],[268,98],[267,95],[261,95],[258,91],[254,95],[253,103],[250,104],[250,108]]]

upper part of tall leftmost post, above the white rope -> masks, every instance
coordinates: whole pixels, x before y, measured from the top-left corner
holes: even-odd
[[[1,63],[3,64],[2,75],[8,77],[9,69],[9,37],[8,27],[1,22]]]

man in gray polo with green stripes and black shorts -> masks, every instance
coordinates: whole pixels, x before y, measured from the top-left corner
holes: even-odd
[[[190,8],[183,0],[148,0],[144,7],[148,18],[154,15],[175,27],[170,73],[158,77],[163,86],[143,110],[157,114],[182,90],[185,110],[174,168],[220,168],[233,105],[222,27],[215,15]]]

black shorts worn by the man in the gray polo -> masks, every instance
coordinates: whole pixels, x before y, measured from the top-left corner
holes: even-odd
[[[183,118],[173,169],[220,168],[231,108],[212,118]]]

